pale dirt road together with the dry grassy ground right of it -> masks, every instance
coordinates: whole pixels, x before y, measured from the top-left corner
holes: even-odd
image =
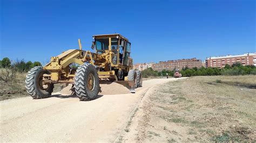
[[[256,76],[158,78],[136,94],[100,83],[80,102],[66,88],[50,98],[0,101],[0,138],[44,142],[256,141]],[[56,90],[60,90],[57,86]]]

